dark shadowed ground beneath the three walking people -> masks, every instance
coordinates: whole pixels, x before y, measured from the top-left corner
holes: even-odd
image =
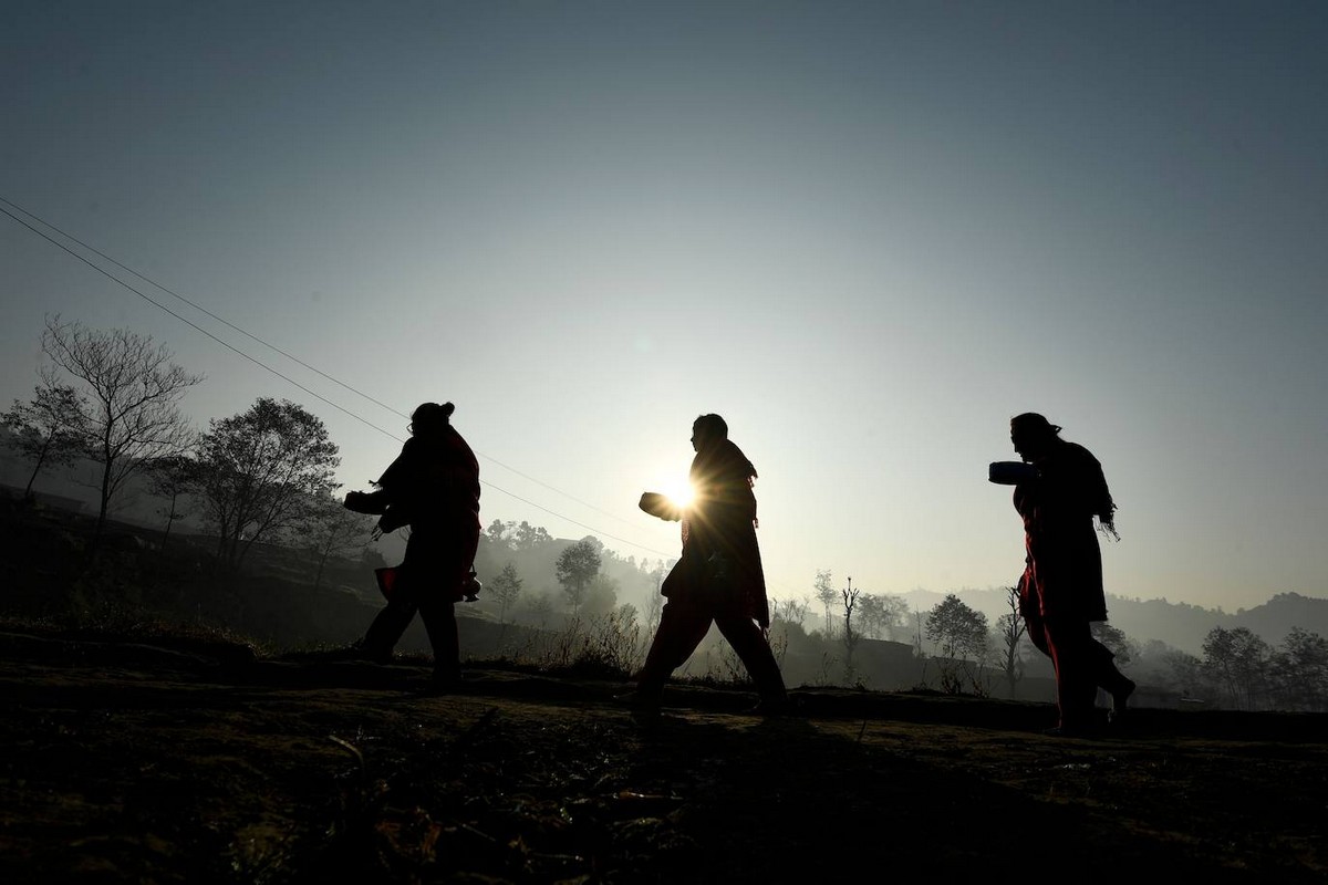
[[[1328,880],[1328,716],[671,686],[0,634],[0,881]]]

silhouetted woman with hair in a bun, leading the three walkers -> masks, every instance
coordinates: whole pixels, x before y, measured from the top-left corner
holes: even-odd
[[[416,612],[433,646],[432,689],[461,679],[461,653],[453,605],[474,598],[473,565],[479,545],[479,463],[452,426],[450,402],[422,403],[410,414],[410,439],[384,471],[374,492],[351,492],[345,507],[381,513],[378,528],[410,527],[400,565],[378,569],[388,605],[369,625],[359,650],[389,661]]]

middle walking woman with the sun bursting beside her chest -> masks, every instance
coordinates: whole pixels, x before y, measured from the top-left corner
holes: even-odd
[[[660,588],[667,597],[633,701],[656,706],[664,683],[705,638],[713,622],[748,669],[761,695],[756,711],[782,713],[789,698],[766,630],[770,610],[756,539],[756,467],[729,441],[718,415],[692,425],[692,502],[679,508],[664,496],[641,495],[641,510],[681,520],[683,555]]]

